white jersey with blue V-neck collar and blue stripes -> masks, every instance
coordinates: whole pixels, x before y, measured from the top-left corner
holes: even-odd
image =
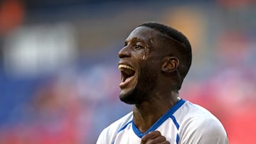
[[[181,99],[145,133],[135,126],[131,112],[105,128],[97,144],[139,144],[150,131],[160,131],[171,144],[228,143],[225,129],[212,113]]]

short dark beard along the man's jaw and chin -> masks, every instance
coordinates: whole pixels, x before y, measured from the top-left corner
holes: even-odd
[[[150,93],[156,86],[156,73],[151,72],[146,66],[139,71],[137,84],[125,94],[119,95],[119,99],[126,104],[141,104],[149,99]]]

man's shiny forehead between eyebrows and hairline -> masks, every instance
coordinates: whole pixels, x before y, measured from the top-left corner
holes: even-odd
[[[129,36],[127,37],[127,40],[133,40],[133,39],[139,39],[144,41],[149,41],[151,39],[157,38],[159,36],[159,32],[148,28],[146,26],[139,26],[132,31]]]

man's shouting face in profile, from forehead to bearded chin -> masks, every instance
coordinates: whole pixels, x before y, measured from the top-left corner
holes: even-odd
[[[138,27],[125,40],[119,51],[119,70],[122,74],[119,98],[127,104],[140,104],[149,99],[156,86],[160,70],[158,31]]]

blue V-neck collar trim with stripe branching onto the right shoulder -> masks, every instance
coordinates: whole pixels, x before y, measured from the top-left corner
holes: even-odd
[[[153,126],[151,126],[151,128],[149,128],[148,131],[146,131],[145,133],[142,133],[141,131],[139,131],[139,129],[137,128],[137,126],[135,126],[134,121],[132,120],[132,129],[134,131],[134,133],[139,137],[142,138],[144,135],[146,135],[147,133],[149,133],[150,131],[155,131],[156,128],[158,128],[159,126],[161,126],[162,123],[164,123],[164,121],[166,121],[168,118],[171,118],[174,123],[175,126],[177,127],[177,129],[179,128],[179,125],[176,121],[176,118],[174,116],[172,116],[172,114],[174,114],[175,111],[177,111],[177,109],[179,109],[186,101],[184,101],[183,99],[181,99],[180,101],[177,102],[177,104],[175,104],[173,107],[171,107],[171,109],[169,109],[169,111],[167,111],[164,116],[161,116],[161,118],[159,118],[158,121],[156,121],[156,123],[154,123]]]

